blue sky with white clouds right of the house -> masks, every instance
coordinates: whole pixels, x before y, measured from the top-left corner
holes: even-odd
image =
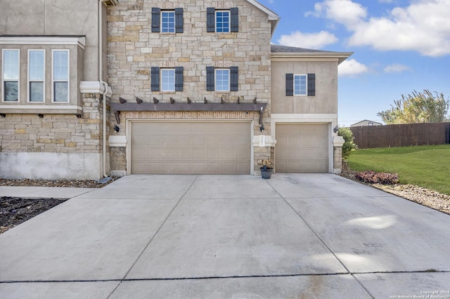
[[[281,20],[272,44],[354,52],[339,66],[338,124],[413,91],[450,98],[450,0],[259,0]]]

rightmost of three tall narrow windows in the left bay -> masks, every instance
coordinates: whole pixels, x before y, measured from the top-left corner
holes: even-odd
[[[69,102],[69,51],[53,50],[53,102]]]

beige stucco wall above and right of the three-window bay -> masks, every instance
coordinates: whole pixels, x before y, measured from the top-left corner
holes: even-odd
[[[98,80],[98,1],[1,0],[0,34],[85,35],[85,81]],[[102,6],[103,7],[103,6]],[[105,11],[105,8],[102,8]]]

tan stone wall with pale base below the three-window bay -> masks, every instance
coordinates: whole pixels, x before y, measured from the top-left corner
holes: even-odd
[[[86,93],[83,115],[6,114],[0,117],[0,177],[101,178],[101,95]]]

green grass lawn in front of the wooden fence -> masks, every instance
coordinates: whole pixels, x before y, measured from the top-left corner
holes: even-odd
[[[402,184],[450,195],[450,145],[356,150],[348,164],[353,171],[398,173]]]

